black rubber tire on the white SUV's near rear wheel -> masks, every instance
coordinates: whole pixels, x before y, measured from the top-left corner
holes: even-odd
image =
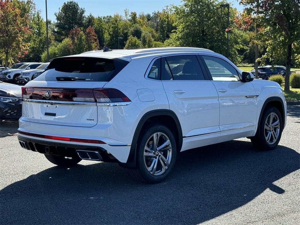
[[[163,136],[161,136],[161,138],[158,139],[158,143],[164,142],[164,134],[167,136],[167,138],[170,140],[170,144],[171,144],[171,157],[170,157],[170,163],[169,166],[167,167],[167,169],[164,170],[164,172],[162,172],[162,174],[160,175],[153,175],[151,174],[147,168],[146,168],[146,162],[144,161],[144,151],[145,151],[145,146],[146,143],[149,143],[149,138],[152,137],[153,134],[157,133],[157,132],[161,132],[163,133]],[[153,141],[152,141],[153,142]],[[159,144],[158,144],[159,146]],[[169,151],[169,150],[165,150],[165,151]],[[162,152],[163,154],[167,154],[166,152]],[[169,174],[171,173],[175,161],[176,161],[176,155],[177,155],[177,146],[176,146],[176,141],[174,138],[173,133],[170,131],[169,128],[167,128],[164,125],[152,125],[152,126],[148,126],[147,128],[143,129],[143,131],[140,134],[140,137],[138,139],[138,143],[137,143],[137,167],[135,169],[130,169],[131,171],[131,175],[141,181],[141,182],[145,182],[145,183],[159,183],[161,181],[163,181],[164,179],[167,178],[167,176],[169,176]],[[157,157],[154,156],[153,158],[157,159],[158,163],[158,167],[161,166],[162,167],[162,161],[163,159],[161,158],[161,155],[158,155]],[[150,157],[151,159],[153,159],[152,157]],[[165,158],[167,159],[167,158]],[[157,168],[158,168],[157,167]],[[160,170],[162,171],[162,170]],[[154,172],[155,173],[155,172]]]

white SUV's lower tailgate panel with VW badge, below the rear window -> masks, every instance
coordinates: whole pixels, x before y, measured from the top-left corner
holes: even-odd
[[[97,87],[104,85],[98,83]],[[50,93],[50,98],[46,98],[47,93]],[[97,106],[92,88],[29,87],[24,94],[27,97],[23,99],[24,121],[76,127],[97,124]]]

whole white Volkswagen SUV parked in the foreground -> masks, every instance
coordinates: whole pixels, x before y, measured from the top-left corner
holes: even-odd
[[[187,149],[241,137],[274,149],[286,124],[280,85],[199,48],[54,58],[22,98],[23,148],[63,167],[117,162],[150,183],[164,180]]]

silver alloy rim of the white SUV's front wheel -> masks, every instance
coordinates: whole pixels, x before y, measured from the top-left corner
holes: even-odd
[[[265,120],[265,140],[269,145],[274,144],[280,133],[280,121],[276,113],[270,113]]]

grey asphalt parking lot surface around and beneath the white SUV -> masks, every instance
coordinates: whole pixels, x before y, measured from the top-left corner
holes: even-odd
[[[300,224],[299,110],[288,107],[276,149],[259,152],[242,138],[188,150],[159,184],[132,180],[117,164],[62,169],[2,137],[0,223]]]

